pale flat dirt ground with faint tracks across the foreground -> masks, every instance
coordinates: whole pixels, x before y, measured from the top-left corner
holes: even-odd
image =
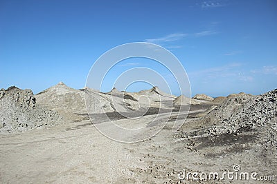
[[[205,110],[199,109],[190,113]],[[144,116],[138,123],[147,123],[152,116]],[[118,122],[128,123],[128,119]],[[240,134],[205,139],[185,137],[183,133],[194,127],[191,122],[195,121],[187,119],[181,130],[173,133],[169,121],[159,134],[139,143],[112,141],[85,119],[47,130],[0,135],[0,182],[276,183],[260,181],[260,176],[276,174],[277,158],[260,149],[258,132],[245,129]],[[266,158],[260,159],[265,154]],[[221,177],[223,172],[234,172],[234,165],[240,166],[238,178],[240,172],[257,172],[258,179],[226,176],[220,181],[198,181],[190,174],[218,172]],[[189,177],[180,179],[184,173]]]

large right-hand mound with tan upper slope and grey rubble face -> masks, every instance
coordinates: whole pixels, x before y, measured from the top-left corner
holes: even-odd
[[[198,121],[206,126],[188,134],[206,137],[258,132],[262,143],[277,148],[277,89],[259,96],[229,96],[219,108]]]

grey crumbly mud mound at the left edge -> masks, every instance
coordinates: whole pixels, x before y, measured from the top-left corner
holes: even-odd
[[[0,90],[0,132],[22,132],[62,122],[62,116],[36,105],[31,90],[15,86]]]

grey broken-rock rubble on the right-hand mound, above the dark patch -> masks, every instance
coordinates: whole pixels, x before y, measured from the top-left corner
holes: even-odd
[[[236,110],[229,118],[220,121],[220,125],[211,127],[206,132],[208,134],[233,133],[245,127],[251,130],[268,127],[276,134],[277,89],[245,102],[240,110]],[[274,139],[277,146],[277,137],[275,136]]]

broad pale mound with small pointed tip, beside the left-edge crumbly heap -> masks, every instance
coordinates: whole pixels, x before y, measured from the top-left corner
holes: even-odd
[[[35,95],[37,103],[48,110],[55,110],[64,116],[66,121],[82,121],[87,120],[87,107],[85,101],[85,93],[87,95],[88,110],[98,112],[104,108],[107,112],[112,112],[111,103],[107,99],[107,95],[89,88],[75,90],[69,88],[60,82],[42,92]],[[100,101],[101,98],[101,101]],[[83,115],[80,115],[83,114]]]

